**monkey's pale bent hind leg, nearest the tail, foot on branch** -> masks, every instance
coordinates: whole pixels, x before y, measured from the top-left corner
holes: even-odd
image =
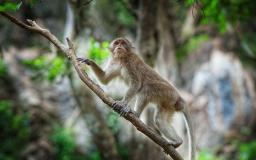
[[[172,140],[168,143],[168,145],[172,145],[174,148],[178,148],[183,143],[183,140],[180,136],[178,136],[170,124],[173,114],[174,111],[168,111],[162,106],[158,107],[155,114],[155,124],[166,138]]]

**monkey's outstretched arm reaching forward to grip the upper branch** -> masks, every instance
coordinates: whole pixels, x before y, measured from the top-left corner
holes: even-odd
[[[107,84],[110,80],[117,77],[118,75],[116,72],[111,71],[110,69],[110,62],[107,64],[106,68],[102,70],[100,65],[98,65],[96,62],[94,62],[92,59],[87,58],[77,58],[80,62],[85,62],[87,65],[90,65],[92,68],[92,71],[96,74],[98,80],[100,80],[101,83]]]

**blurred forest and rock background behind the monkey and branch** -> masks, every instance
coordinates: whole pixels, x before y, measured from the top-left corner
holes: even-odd
[[[26,24],[35,20],[64,45],[70,37],[78,57],[101,67],[109,43],[129,39],[189,103],[197,159],[256,159],[256,1],[87,2],[0,0],[0,10]],[[0,55],[1,160],[171,159],[101,102],[48,39],[3,16]],[[103,86],[84,67],[113,99],[123,98],[123,83]],[[149,105],[141,120],[157,131],[153,114]],[[188,159],[184,121],[175,115],[172,124]]]

